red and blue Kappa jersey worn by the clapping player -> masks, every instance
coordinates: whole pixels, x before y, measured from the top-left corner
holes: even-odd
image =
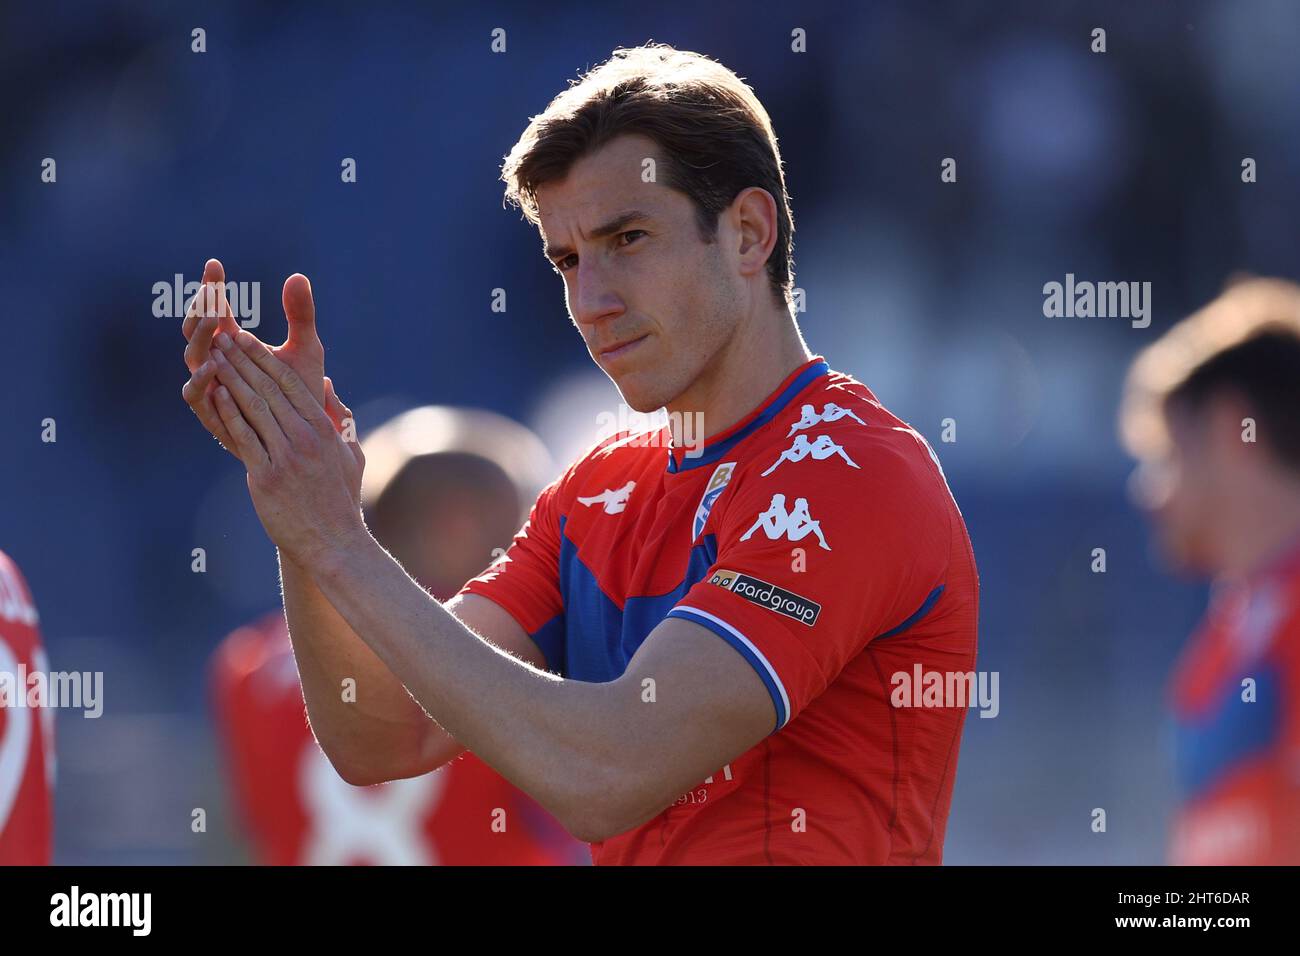
[[[975,665],[975,559],[932,450],[820,358],[670,446],[667,428],[601,442],[464,588],[567,678],[615,680],[679,617],[771,695],[771,736],[593,860],[940,862],[966,710],[890,700],[900,674]]]

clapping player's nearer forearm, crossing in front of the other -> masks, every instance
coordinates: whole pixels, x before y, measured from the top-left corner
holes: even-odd
[[[364,528],[312,571],[424,709],[571,831],[582,829],[588,795],[624,783],[629,736],[611,684],[563,680],[481,640]]]

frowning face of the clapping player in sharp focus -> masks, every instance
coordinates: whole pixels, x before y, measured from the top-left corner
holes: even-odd
[[[632,408],[660,408],[701,376],[740,324],[736,245],[706,243],[690,199],[644,182],[658,146],[623,135],[537,190],[542,241],[569,317]]]

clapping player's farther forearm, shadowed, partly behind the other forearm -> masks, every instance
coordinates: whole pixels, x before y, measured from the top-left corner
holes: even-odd
[[[306,568],[281,553],[280,574],[312,728],[344,778],[373,783],[421,773],[463,749],[356,636]],[[354,693],[346,693],[347,679]]]

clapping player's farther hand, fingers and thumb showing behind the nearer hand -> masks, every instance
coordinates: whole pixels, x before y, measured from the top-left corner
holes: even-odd
[[[198,415],[203,427],[228,451],[237,454],[230,433],[212,403],[213,393],[217,389],[217,367],[211,360],[213,336],[217,332],[224,332],[234,337],[240,332],[230,303],[226,300],[225,281],[226,274],[221,263],[209,259],[203,267],[203,287],[194,297],[186,310],[185,321],[181,324],[181,333],[187,342],[185,364],[191,372],[190,381],[181,389],[181,395]],[[289,320],[289,338],[281,346],[269,347],[269,351],[299,375],[317,403],[325,407],[334,427],[342,429],[342,412],[344,410],[333,395],[333,388],[325,377],[325,346],[321,345],[320,336],[316,333],[316,304],[312,300],[312,284],[307,281],[307,276],[295,273],[285,280],[281,300],[285,307],[285,317]]]

